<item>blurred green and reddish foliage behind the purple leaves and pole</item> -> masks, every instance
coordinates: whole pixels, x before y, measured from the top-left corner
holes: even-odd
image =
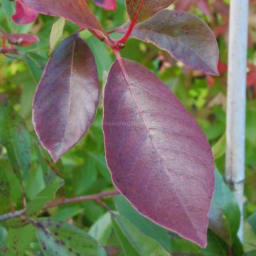
[[[63,194],[72,198],[114,189],[105,164],[102,106],[86,137],[53,164],[33,132],[31,103],[49,53],[60,38],[78,27],[43,15],[34,24],[18,26],[10,18],[14,3],[0,0],[0,4],[0,28],[35,33],[40,38],[33,46],[22,48],[25,54],[18,59],[0,55],[0,215],[22,209],[24,195],[26,215],[31,216],[28,223],[22,218],[0,222],[0,255],[256,255],[256,1],[250,1],[244,245],[236,237],[238,206],[223,181],[228,1],[186,0],[170,7],[194,12],[213,29],[220,47],[218,78],[192,71],[164,51],[135,39],[122,50],[124,58],[146,65],[171,87],[213,146],[216,184],[206,249],[151,223],[119,195],[41,210]],[[109,30],[127,21],[124,1],[117,4],[117,11],[104,11],[90,2],[92,11]],[[81,36],[95,54],[103,86],[114,55],[89,32]],[[114,212],[110,214],[106,208]]]

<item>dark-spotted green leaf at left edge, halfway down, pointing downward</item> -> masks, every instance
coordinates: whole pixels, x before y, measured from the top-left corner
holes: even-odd
[[[23,119],[16,112],[0,102],[0,143],[8,152],[14,173],[25,183],[31,169],[30,135]]]

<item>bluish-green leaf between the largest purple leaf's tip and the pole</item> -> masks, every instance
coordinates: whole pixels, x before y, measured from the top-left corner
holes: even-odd
[[[210,229],[231,245],[240,225],[240,210],[233,193],[217,169],[215,169],[215,193],[209,217]]]

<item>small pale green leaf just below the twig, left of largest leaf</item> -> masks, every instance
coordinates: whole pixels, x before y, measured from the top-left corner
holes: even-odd
[[[110,238],[112,230],[112,221],[110,213],[102,215],[90,228],[89,235],[95,238],[97,242],[102,245],[107,244],[107,240]]]

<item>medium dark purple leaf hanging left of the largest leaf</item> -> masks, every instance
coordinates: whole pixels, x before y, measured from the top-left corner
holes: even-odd
[[[90,48],[71,36],[50,57],[33,102],[33,124],[57,161],[85,134],[99,100],[97,68]]]

